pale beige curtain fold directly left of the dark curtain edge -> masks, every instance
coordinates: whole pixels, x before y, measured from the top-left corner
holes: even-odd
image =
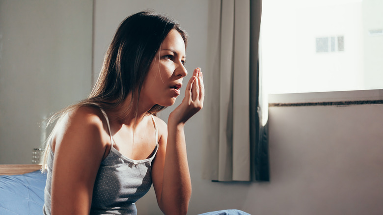
[[[250,2],[249,0],[235,0],[234,2],[232,180],[250,181]]]

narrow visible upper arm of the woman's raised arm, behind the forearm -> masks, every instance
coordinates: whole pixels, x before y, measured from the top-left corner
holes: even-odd
[[[166,154],[166,143],[167,143],[167,125],[158,117],[155,117],[159,140],[158,140],[158,151],[153,161],[152,166],[152,183],[154,191],[156,192],[157,202],[161,202],[162,185],[164,180],[164,165],[165,165],[165,154]]]

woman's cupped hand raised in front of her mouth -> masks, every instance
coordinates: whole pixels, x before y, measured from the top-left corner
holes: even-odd
[[[170,113],[168,124],[185,124],[195,113],[203,107],[205,88],[201,68],[194,69],[193,76],[186,86],[185,97],[181,104]]]

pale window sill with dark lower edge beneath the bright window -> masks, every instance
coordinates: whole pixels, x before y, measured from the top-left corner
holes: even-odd
[[[269,107],[383,104],[383,89],[269,94]]]

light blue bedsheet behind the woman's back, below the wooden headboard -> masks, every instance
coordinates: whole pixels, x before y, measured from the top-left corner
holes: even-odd
[[[46,179],[40,171],[0,176],[0,215],[42,215]]]

